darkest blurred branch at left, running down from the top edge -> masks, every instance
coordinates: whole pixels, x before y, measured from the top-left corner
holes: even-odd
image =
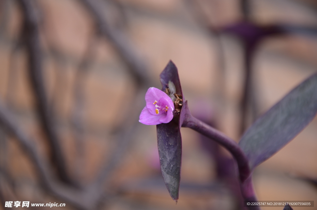
[[[29,75],[36,95],[38,112],[42,121],[43,129],[47,135],[49,148],[51,149],[52,162],[57,169],[61,180],[71,183],[67,174],[64,155],[61,151],[57,131],[50,113],[46,89],[42,75],[42,52],[38,31],[36,11],[29,0],[18,0],[23,10],[24,17],[24,42],[28,52]]]

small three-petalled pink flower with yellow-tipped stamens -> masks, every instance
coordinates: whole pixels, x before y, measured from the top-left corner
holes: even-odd
[[[145,101],[146,106],[140,114],[139,122],[145,125],[158,125],[173,119],[173,101],[162,90],[149,88],[145,94]]]

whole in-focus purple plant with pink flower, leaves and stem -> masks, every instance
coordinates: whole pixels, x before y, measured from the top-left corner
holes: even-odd
[[[178,200],[182,158],[181,127],[191,128],[226,148],[236,162],[237,179],[244,200],[256,201],[252,183],[254,168],[291,141],[317,113],[315,73],[257,119],[236,143],[191,115],[173,62],[167,64],[160,80],[162,90],[152,87],[146,92],[146,107],[140,114],[139,122],[156,125],[161,172],[175,201]],[[248,209],[260,207],[249,206]]]

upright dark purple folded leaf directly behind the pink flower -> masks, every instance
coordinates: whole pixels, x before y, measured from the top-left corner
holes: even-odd
[[[174,102],[173,119],[169,123],[156,125],[159,159],[162,175],[168,192],[173,200],[178,200],[180,168],[182,161],[182,137],[180,122],[183,93],[178,71],[173,62],[169,62],[160,74],[162,91],[166,92]],[[174,93],[178,98],[174,96]]]

